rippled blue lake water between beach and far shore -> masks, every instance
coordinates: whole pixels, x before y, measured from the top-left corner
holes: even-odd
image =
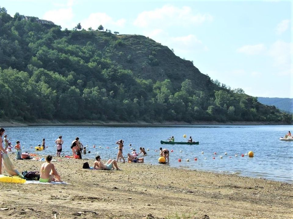
[[[127,153],[132,151],[128,145],[132,144],[132,148],[136,151],[139,151],[139,147],[149,149],[144,158],[146,163],[153,165],[170,165],[176,168],[238,174],[293,183],[293,142],[279,140],[288,130],[292,132],[292,126],[38,126],[7,127],[5,134],[11,138],[13,146],[17,140],[20,141],[22,152],[39,155],[56,155],[54,142],[59,135],[62,135],[64,144],[61,155],[63,156],[72,155],[71,142],[75,137],[79,137],[87,151],[91,151],[86,155],[82,154],[82,158],[94,159],[96,155],[100,155],[103,160],[117,157],[118,145],[115,142],[122,138],[125,141],[123,149],[125,159],[127,159]],[[183,138],[184,134],[186,138]],[[187,141],[188,137],[192,136],[193,141],[199,141],[199,145],[160,144],[160,140],[165,141],[170,136],[174,136],[175,141]],[[44,151],[35,151],[34,147],[42,144],[43,138],[46,139],[48,148]],[[173,150],[170,152],[169,164],[157,162],[160,147],[168,148],[169,151]],[[254,152],[253,158],[241,157],[241,154],[245,155],[248,151]],[[238,156],[236,157],[235,154]],[[178,162],[179,158],[182,162]],[[186,161],[187,158],[189,162]],[[197,158],[197,161],[194,161],[194,158]],[[89,163],[93,165],[93,162]]]

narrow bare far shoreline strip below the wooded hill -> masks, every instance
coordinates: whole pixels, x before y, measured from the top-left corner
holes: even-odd
[[[1,121],[0,127],[30,127],[30,126],[117,126],[117,127],[168,127],[168,126],[186,126],[186,125],[292,125],[288,123],[277,122],[249,122],[233,121],[220,123],[216,121],[196,121],[193,123],[186,122],[162,122],[147,123],[144,121],[137,122],[118,122],[118,121],[58,121],[58,120],[37,120],[35,122],[18,122],[14,120]]]

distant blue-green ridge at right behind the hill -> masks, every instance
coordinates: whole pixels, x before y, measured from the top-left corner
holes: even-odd
[[[276,106],[283,112],[293,113],[293,98],[258,97],[257,100],[267,106]]]

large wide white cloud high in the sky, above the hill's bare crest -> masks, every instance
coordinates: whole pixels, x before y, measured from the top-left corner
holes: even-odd
[[[138,27],[150,28],[177,25],[180,28],[181,26],[212,21],[212,19],[213,17],[210,14],[193,15],[190,7],[183,6],[182,8],[177,8],[173,5],[164,5],[162,8],[140,13],[133,24]]]

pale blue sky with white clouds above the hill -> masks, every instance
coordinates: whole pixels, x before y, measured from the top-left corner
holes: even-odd
[[[213,80],[255,97],[293,98],[292,2],[1,0],[13,16],[148,36]]]

